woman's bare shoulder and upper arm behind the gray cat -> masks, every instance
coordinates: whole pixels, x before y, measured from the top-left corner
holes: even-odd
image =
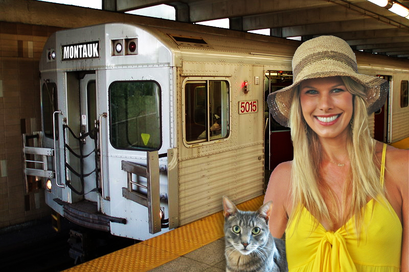
[[[270,233],[281,238],[287,226],[288,214],[292,201],[290,199],[291,162],[283,162],[272,171],[264,196],[264,203],[272,200],[272,210],[268,226]]]

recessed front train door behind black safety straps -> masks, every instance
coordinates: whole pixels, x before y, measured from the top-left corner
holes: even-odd
[[[98,202],[95,72],[69,72],[66,75],[66,82],[65,183],[73,192],[73,202],[81,200]]]

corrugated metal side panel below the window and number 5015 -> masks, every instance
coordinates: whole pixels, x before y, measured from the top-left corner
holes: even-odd
[[[223,195],[235,203],[263,193],[262,143],[179,162],[180,225],[222,210]]]

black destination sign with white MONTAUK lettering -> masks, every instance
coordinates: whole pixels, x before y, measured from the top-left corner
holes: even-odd
[[[62,60],[99,58],[99,41],[61,45]]]

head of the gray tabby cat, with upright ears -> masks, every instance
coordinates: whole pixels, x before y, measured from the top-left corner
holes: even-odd
[[[263,251],[263,246],[270,235],[268,216],[271,206],[271,202],[268,202],[256,212],[240,211],[224,196],[226,250],[238,251],[242,255]]]

